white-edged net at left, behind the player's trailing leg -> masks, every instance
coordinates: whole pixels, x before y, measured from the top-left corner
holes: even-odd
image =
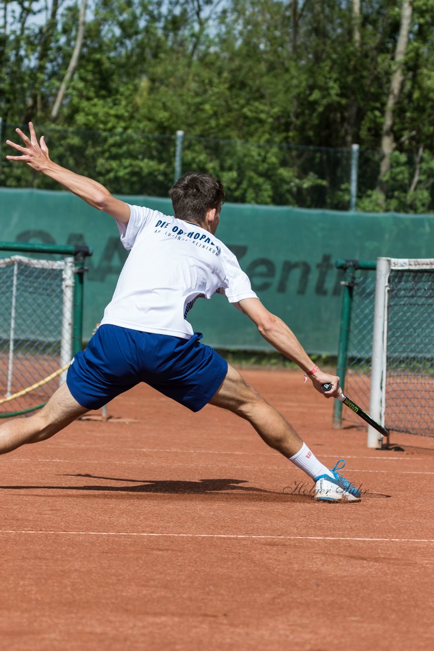
[[[0,260],[0,413],[32,409],[72,356],[74,260]],[[49,378],[49,379],[48,379]]]

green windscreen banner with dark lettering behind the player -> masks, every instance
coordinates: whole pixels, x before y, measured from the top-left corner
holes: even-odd
[[[172,214],[169,199],[119,198]],[[88,339],[102,319],[128,255],[115,220],[70,193],[31,189],[0,189],[0,214],[3,241],[93,249],[94,255],[86,260],[83,336]],[[288,324],[306,350],[335,355],[342,271],[336,270],[334,261],[432,258],[434,215],[224,204],[217,237],[236,254],[265,307]],[[223,296],[196,301],[189,321],[204,334],[204,342],[217,348],[271,350],[254,324]]]

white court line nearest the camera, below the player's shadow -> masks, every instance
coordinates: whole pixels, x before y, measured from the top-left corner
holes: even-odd
[[[356,538],[352,536],[262,536],[254,534],[155,533],[127,531],[34,531],[32,529],[0,529],[0,534],[58,534],[61,536],[135,536],[142,538],[243,538],[245,540],[347,540],[355,542],[434,542],[434,538]]]

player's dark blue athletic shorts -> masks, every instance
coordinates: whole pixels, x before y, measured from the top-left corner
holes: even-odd
[[[165,396],[199,411],[211,400],[228,372],[228,363],[210,346],[191,339],[156,335],[103,324],[74,357],[66,384],[87,409],[146,382]]]

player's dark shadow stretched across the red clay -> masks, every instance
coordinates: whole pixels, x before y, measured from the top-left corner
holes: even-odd
[[[64,477],[88,477],[90,479],[102,479],[113,482],[128,482],[127,486],[113,486],[101,484],[85,484],[84,486],[1,486],[9,490],[78,490],[78,491],[102,491],[102,492],[126,492],[126,493],[159,493],[169,495],[216,495],[217,493],[231,493],[230,498],[235,497],[238,501],[265,501],[265,502],[305,502],[310,499],[308,495],[288,495],[288,493],[255,488],[254,486],[241,486],[245,484],[244,479],[200,479],[198,481],[175,481],[175,480],[139,480],[126,479],[124,477],[99,477],[77,473],[64,475]]]

